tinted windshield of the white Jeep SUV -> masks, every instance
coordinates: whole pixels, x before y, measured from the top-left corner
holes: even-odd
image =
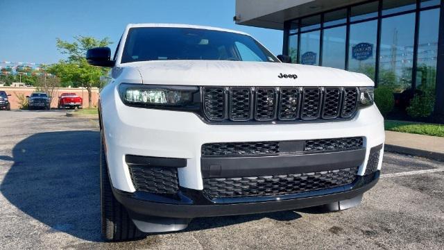
[[[248,35],[197,28],[130,28],[121,63],[145,60],[279,60]]]

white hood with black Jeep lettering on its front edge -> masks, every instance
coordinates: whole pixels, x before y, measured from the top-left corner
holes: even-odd
[[[137,68],[144,84],[225,86],[374,85],[373,81],[364,74],[328,67],[287,63],[162,60],[126,63],[125,66]],[[291,77],[282,77],[284,74],[291,75]],[[293,75],[296,75],[297,78]]]

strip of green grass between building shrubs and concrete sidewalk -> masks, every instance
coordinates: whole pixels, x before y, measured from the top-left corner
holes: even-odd
[[[444,137],[443,124],[425,124],[420,122],[402,122],[402,121],[385,121],[385,129],[387,131],[396,131],[403,133],[416,133],[420,135],[433,135]]]

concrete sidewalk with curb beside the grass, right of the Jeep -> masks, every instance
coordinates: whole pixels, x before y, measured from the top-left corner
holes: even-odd
[[[444,138],[386,131],[384,150],[444,161]]]

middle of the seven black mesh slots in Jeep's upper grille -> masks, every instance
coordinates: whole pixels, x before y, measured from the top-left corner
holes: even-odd
[[[280,90],[279,119],[294,120],[298,117],[298,88],[282,88]]]

